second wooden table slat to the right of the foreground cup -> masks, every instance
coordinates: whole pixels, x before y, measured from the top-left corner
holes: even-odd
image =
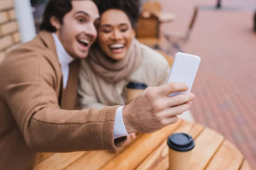
[[[235,145],[225,140],[206,170],[239,170],[243,159],[244,156]]]

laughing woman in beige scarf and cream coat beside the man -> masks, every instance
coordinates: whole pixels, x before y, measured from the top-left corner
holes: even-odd
[[[80,72],[78,93],[83,109],[125,105],[128,82],[159,86],[169,75],[166,59],[135,39],[136,19],[129,12],[109,8],[100,13],[98,40]]]

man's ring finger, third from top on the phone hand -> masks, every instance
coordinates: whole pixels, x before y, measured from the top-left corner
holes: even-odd
[[[192,102],[186,102],[182,105],[178,105],[173,108],[167,108],[163,111],[160,111],[159,113],[156,113],[156,116],[161,117],[162,119],[172,117],[172,116],[177,116],[177,115],[180,115],[183,112],[189,110],[191,105],[192,105]]]

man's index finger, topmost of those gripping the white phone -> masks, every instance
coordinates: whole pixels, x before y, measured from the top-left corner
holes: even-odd
[[[168,84],[157,87],[157,94],[160,96],[169,96],[169,94],[178,91],[188,91],[189,86],[181,82],[170,82]]]

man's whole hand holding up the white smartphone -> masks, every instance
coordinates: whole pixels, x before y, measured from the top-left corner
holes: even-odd
[[[195,95],[190,93],[169,97],[169,94],[188,90],[187,85],[178,82],[146,88],[122,109],[127,133],[152,133],[176,123],[176,115],[190,108]]]

